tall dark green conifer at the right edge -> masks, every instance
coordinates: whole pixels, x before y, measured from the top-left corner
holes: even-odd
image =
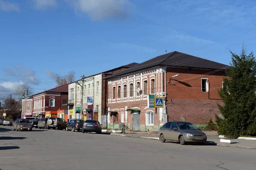
[[[222,120],[217,115],[218,133],[227,138],[256,134],[256,60],[253,52],[240,55],[231,52],[231,69],[218,93],[224,105],[218,105]],[[254,122],[254,124],[253,124]]]

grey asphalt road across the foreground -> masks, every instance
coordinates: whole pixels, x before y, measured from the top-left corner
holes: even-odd
[[[256,150],[0,126],[1,170],[255,170]]]

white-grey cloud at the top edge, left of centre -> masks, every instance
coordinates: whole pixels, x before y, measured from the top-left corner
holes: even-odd
[[[130,15],[128,0],[66,0],[76,12],[86,13],[92,20],[124,19]]]

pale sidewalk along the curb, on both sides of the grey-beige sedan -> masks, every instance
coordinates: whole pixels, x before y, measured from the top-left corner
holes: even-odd
[[[217,146],[226,146],[226,147],[241,147],[241,148],[250,148],[256,149],[256,141],[247,141],[247,140],[238,140],[239,143],[228,144],[221,143],[220,138],[216,131],[204,131],[207,135],[207,143],[205,145],[217,145]],[[137,133],[111,133],[111,135],[121,135],[131,138],[150,138],[154,140],[159,140],[157,133],[146,133],[146,132],[137,132]]]

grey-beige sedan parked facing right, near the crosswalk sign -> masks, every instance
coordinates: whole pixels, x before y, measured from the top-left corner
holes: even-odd
[[[160,128],[160,141],[165,142],[166,139],[178,141],[182,145],[185,142],[204,144],[207,141],[207,135],[189,122],[169,121]]]

